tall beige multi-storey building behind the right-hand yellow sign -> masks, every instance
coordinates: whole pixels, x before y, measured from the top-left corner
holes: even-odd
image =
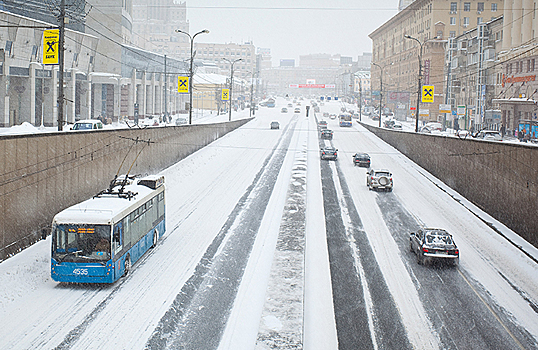
[[[410,96],[406,103],[399,101],[387,103],[387,106],[393,109],[404,107],[409,112],[416,105],[419,93],[418,62],[421,55],[422,85],[433,85],[435,96],[433,103],[420,104],[420,119],[443,121],[446,116],[439,113],[439,104],[445,103],[444,65],[448,38],[502,16],[503,10],[504,0],[415,0],[369,35],[372,62],[377,64],[372,67],[372,90],[380,90],[383,70],[383,95],[396,92]]]

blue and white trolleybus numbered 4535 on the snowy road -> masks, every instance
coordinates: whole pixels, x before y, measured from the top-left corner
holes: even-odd
[[[52,222],[51,276],[57,282],[112,283],[165,231],[164,176],[120,177]]]

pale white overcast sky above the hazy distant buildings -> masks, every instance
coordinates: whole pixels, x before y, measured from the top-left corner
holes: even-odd
[[[368,34],[397,13],[398,0],[186,0],[190,32],[208,29],[199,42],[244,43],[270,48],[280,59],[328,53],[372,52]]]

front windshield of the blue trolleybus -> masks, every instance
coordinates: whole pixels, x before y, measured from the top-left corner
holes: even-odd
[[[110,259],[109,225],[58,224],[52,228],[52,257],[60,262]]]

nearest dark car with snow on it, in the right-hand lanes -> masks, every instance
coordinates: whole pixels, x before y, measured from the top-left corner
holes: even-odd
[[[417,255],[419,264],[433,260],[459,263],[460,252],[452,235],[438,228],[425,228],[409,234],[409,249]]]

